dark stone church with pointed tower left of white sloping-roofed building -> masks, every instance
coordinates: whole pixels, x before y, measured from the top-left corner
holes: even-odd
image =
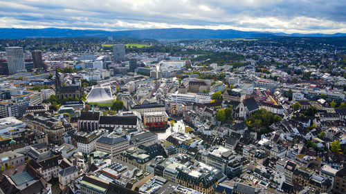
[[[55,96],[59,99],[64,99],[66,97],[67,99],[69,97],[72,97],[73,99],[75,97],[82,97],[83,90],[82,86],[80,84],[80,81],[78,83],[75,83],[75,80],[72,79],[71,84],[64,84],[64,74],[61,72],[55,73]]]

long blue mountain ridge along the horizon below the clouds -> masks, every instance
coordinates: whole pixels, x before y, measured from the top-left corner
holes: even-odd
[[[234,39],[251,37],[346,37],[345,33],[327,34],[285,34],[273,32],[246,32],[240,30],[209,30],[163,28],[149,30],[72,30],[66,28],[0,28],[0,39],[25,39],[44,37],[131,37],[140,39]]]

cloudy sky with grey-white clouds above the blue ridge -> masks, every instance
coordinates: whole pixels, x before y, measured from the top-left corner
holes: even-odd
[[[0,28],[346,33],[346,0],[0,0]]]

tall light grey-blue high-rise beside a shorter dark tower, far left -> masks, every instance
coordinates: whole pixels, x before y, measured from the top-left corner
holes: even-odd
[[[26,72],[24,64],[23,48],[19,46],[6,47],[6,55],[8,62],[8,73],[10,75],[19,72]]]

